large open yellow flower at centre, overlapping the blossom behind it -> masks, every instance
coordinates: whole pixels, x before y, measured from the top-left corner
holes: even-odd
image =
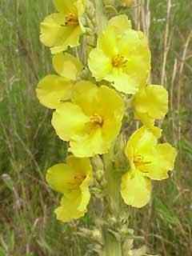
[[[122,98],[107,86],[78,82],[72,102],[55,110],[52,125],[58,136],[70,142],[76,157],[105,154],[119,133],[124,113]]]

